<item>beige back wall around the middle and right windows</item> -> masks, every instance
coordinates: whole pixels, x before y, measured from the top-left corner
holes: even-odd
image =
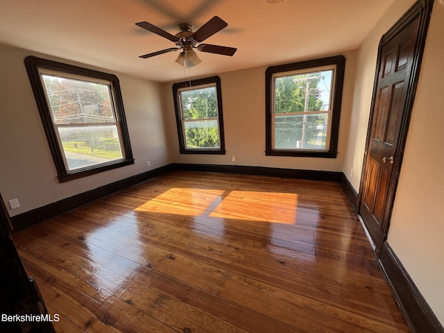
[[[180,163],[342,171],[348,128],[350,127],[356,53],[355,51],[345,51],[341,54],[345,56],[346,62],[339,128],[339,153],[336,158],[265,156],[265,70],[267,67],[255,67],[219,74],[223,99],[226,155],[179,153],[173,105],[173,83],[164,85],[164,94],[168,96],[165,110],[169,117],[169,133],[173,138],[171,142],[173,160]],[[294,61],[298,61],[298,59]],[[232,162],[232,156],[236,157],[235,162]]]

